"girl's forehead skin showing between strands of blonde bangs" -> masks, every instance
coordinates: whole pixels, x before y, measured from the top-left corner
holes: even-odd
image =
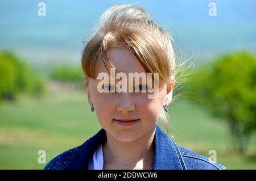
[[[142,65],[139,63],[138,59],[135,57],[133,52],[129,49],[123,47],[113,47],[108,50],[109,60],[114,64],[119,72],[128,74],[128,73],[146,73]],[[96,77],[99,73],[105,72],[106,70],[104,63],[97,60],[96,66]]]

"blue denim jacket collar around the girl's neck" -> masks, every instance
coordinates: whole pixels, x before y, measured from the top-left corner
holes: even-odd
[[[90,157],[106,139],[106,131],[102,128],[77,149],[64,169],[88,169]],[[154,146],[153,170],[186,169],[178,146],[158,125],[156,125]]]

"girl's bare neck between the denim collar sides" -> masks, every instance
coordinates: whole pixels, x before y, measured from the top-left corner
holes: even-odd
[[[119,141],[107,132],[104,167],[112,169],[150,169],[154,159],[155,128],[134,141]]]

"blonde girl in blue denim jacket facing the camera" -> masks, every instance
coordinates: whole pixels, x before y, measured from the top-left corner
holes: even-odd
[[[102,129],[45,169],[225,169],[176,145],[157,125],[168,123],[177,65],[172,37],[141,7],[106,10],[81,62]]]

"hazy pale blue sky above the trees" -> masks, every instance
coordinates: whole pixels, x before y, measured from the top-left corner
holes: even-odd
[[[46,16],[38,16],[38,4]],[[216,16],[209,16],[209,3]],[[256,54],[256,1],[78,1],[0,0],[0,51],[11,50],[31,64],[80,64],[84,40],[101,14],[113,5],[135,3],[146,9],[175,40],[175,49],[196,63],[226,52]]]

